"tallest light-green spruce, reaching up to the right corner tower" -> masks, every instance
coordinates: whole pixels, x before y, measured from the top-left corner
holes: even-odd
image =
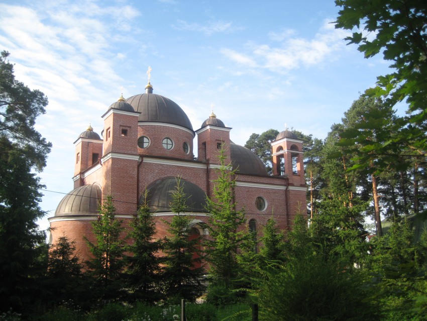
[[[219,159],[219,176],[213,181],[213,197],[207,199],[210,239],[206,239],[205,249],[212,284],[234,289],[236,285],[233,282],[241,278],[238,249],[248,248],[247,243],[252,242],[252,235],[243,225],[245,212],[239,210],[234,201],[235,171],[225,163],[223,148]]]

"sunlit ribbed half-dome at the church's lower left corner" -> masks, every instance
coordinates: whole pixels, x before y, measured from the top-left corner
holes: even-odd
[[[96,184],[80,186],[64,196],[55,216],[97,214],[101,195],[101,188]]]

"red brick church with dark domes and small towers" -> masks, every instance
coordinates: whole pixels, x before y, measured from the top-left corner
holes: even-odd
[[[49,218],[50,242],[55,244],[66,235],[75,242],[83,260],[90,256],[83,236],[94,240],[91,222],[97,219],[98,204],[106,195],[113,196],[116,217],[127,227],[147,189],[157,236],[164,236],[164,220],[174,215],[169,203],[177,176],[189,196],[190,233],[193,237],[206,235],[209,213],[204,207],[205,198],[212,195],[212,180],[218,177],[222,145],[228,162],[237,171],[235,200],[238,208],[245,209],[249,229],[261,230],[272,213],[280,228],[287,229],[298,209],[305,208],[302,141],[289,130],[279,133],[271,143],[270,176],[257,155],[230,140],[232,128],[226,127],[213,111],[194,131],[175,102],[153,94],[150,81],[144,94],[128,99],[122,95],[102,119],[101,135],[89,126],[74,142],[74,189]],[[197,146],[193,146],[196,135]]]

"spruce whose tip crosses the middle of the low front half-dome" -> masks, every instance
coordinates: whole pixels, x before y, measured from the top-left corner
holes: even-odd
[[[165,282],[165,293],[172,300],[186,299],[193,301],[203,290],[200,282],[202,268],[196,267],[201,259],[193,257],[198,253],[198,239],[189,239],[188,226],[191,218],[185,215],[189,211],[186,204],[188,197],[184,193],[184,186],[180,178],[176,179],[176,189],[172,193],[172,201],[169,204],[171,211],[176,213],[169,226],[170,236],[164,239],[165,267],[163,280]]]

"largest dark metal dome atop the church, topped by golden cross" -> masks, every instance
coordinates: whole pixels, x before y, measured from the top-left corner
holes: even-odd
[[[187,115],[175,102],[169,98],[152,94],[151,85],[147,92],[132,96],[126,100],[133,109],[140,112],[138,121],[153,121],[178,125],[193,131],[193,126]]]

